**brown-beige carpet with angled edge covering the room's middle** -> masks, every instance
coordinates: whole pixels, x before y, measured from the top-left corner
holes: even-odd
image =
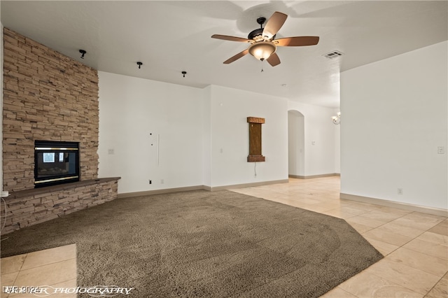
[[[342,219],[230,191],[116,199],[8,234],[1,256],[69,243],[78,285],[128,297],[319,297],[382,257]]]

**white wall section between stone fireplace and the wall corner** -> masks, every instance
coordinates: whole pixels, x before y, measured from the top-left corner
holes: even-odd
[[[99,177],[118,193],[202,185],[202,95],[99,71]]]

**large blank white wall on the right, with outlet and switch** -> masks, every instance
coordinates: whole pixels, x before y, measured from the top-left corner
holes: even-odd
[[[447,209],[447,48],[342,73],[342,193]]]

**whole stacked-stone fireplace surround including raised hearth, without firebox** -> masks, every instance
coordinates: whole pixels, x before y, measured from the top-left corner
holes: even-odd
[[[98,110],[95,69],[3,29],[1,234],[117,198],[119,178],[98,179]],[[35,140],[79,142],[80,181],[34,190]]]

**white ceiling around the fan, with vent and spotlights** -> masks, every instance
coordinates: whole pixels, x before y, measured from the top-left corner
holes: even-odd
[[[2,0],[1,23],[99,71],[337,107],[339,71],[446,41],[447,3]],[[276,38],[320,36],[318,45],[278,48],[275,67],[251,55],[223,64],[248,45],[210,36],[246,38],[259,28],[258,17],[274,11],[288,15]],[[85,59],[79,49],[87,51]],[[344,56],[323,57],[333,50]]]

